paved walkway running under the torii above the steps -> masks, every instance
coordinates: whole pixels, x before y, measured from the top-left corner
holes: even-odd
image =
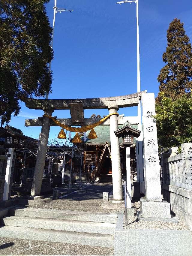
[[[83,184],[83,183],[82,183]],[[103,192],[111,192],[112,183],[83,184],[81,188],[64,198],[53,200],[50,203],[38,204],[35,208],[75,210],[86,212],[117,212],[117,210],[102,209]],[[62,191],[62,189],[61,189]]]

